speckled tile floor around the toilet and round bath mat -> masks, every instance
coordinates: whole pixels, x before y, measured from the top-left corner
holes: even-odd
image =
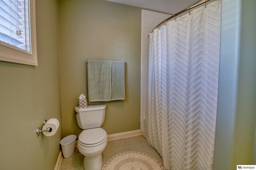
[[[136,151],[148,154],[162,164],[162,158],[154,148],[149,146],[144,136],[135,136],[107,143],[102,152],[103,165],[113,156],[122,152]],[[75,148],[74,154],[70,158],[63,158],[60,170],[84,170],[84,156]]]

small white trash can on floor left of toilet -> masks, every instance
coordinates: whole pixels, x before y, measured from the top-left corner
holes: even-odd
[[[76,135],[69,135],[60,140],[62,154],[64,158],[69,158],[74,154]]]

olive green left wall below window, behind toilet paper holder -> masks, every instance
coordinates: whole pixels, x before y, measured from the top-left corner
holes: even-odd
[[[60,153],[62,117],[58,0],[36,0],[38,66],[0,61],[0,169],[53,170]],[[56,118],[54,136],[36,136]]]

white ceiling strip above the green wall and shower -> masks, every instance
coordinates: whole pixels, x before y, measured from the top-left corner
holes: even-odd
[[[107,0],[120,4],[136,6],[146,10],[162,12],[166,14],[176,14],[199,0]]]

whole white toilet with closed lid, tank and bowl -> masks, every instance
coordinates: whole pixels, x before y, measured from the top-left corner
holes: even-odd
[[[100,128],[105,119],[106,105],[88,105],[88,108],[75,107],[76,121],[83,129],[78,137],[78,150],[84,155],[85,170],[101,170],[101,153],[107,145],[107,133]]]

